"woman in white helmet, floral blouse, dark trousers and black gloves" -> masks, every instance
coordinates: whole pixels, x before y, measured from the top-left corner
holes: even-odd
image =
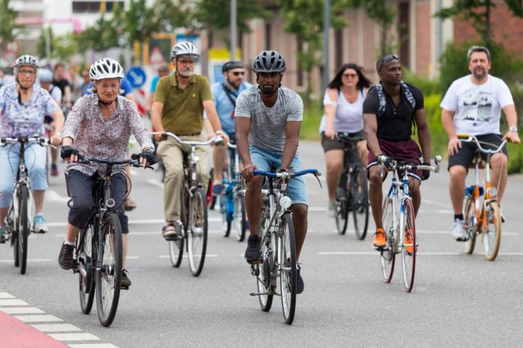
[[[78,232],[85,228],[94,206],[92,185],[98,175],[103,175],[105,171],[105,166],[100,164],[78,163],[78,155],[103,160],[127,160],[127,144],[132,133],[142,149],[140,162],[144,166],[156,162],[149,131],[145,128],[134,102],[118,95],[120,81],[124,76],[122,66],[113,59],[103,58],[91,66],[89,76],[93,81],[94,93],[76,101],[67,116],[63,131],[61,157],[69,162],[66,171],[67,187],[73,200],[67,218],[67,234],[58,257],[58,264],[64,270],[70,270],[74,266],[74,241]],[[125,166],[114,166],[111,191],[115,206],[118,207],[123,233],[121,287],[127,290],[131,280],[125,270],[129,233],[129,224],[123,209],[127,194]]]

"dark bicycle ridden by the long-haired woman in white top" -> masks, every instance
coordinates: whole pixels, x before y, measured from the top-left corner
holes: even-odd
[[[337,140],[345,144],[345,149],[343,172],[336,188],[336,227],[340,235],[345,235],[349,213],[352,211],[356,237],[363,241],[369,225],[369,188],[367,170],[361,164],[357,144],[365,138],[338,133]]]

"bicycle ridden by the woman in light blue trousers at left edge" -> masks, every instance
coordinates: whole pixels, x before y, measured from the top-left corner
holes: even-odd
[[[13,247],[14,267],[20,267],[20,273],[25,274],[28,261],[28,237],[32,232],[29,221],[34,215],[34,204],[30,194],[31,180],[28,168],[25,166],[25,146],[26,144],[53,145],[41,135],[0,138],[0,146],[8,144],[20,144],[20,153],[17,181],[14,183],[14,193],[6,216],[6,241],[10,240]]]

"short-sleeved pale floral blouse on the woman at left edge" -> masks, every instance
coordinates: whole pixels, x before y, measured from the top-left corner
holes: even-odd
[[[0,137],[43,134],[43,118],[58,105],[45,89],[33,85],[28,102],[19,102],[17,84],[0,88]]]

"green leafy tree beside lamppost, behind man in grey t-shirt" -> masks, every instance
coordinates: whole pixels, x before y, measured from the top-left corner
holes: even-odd
[[[307,72],[306,103],[310,104],[312,91],[311,72],[321,64],[320,52],[323,47],[323,1],[317,0],[279,0],[281,16],[285,19],[284,31],[296,34],[301,41],[297,52],[298,62]],[[343,28],[347,21],[341,14],[345,6],[343,0],[331,0],[330,26]]]

